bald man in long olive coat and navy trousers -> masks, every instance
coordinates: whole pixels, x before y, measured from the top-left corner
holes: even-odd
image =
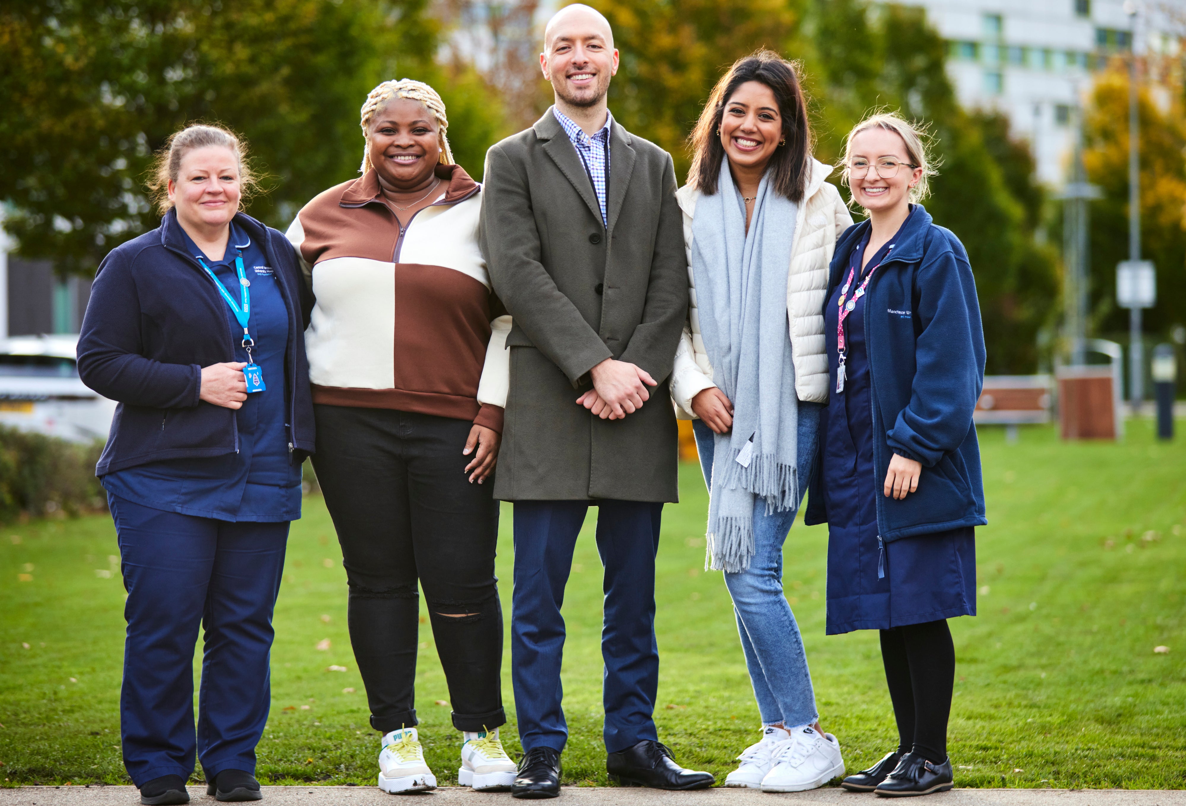
[[[511,676],[524,757],[516,798],[560,793],[568,738],[560,615],[573,546],[598,506],[605,567],[606,768],[623,782],[710,786],[659,744],[655,554],[677,500],[668,377],[688,305],[671,155],[626,132],[606,92],[618,51],[588,6],[548,23],[555,105],[486,155],[479,235],[514,318],[495,497],[515,504]]]

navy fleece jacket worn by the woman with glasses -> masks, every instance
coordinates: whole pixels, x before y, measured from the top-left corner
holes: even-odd
[[[830,300],[854,243],[869,229],[848,228],[828,274]],[[984,487],[971,414],[984,382],[984,333],[968,252],[950,230],[914,209],[887,258],[869,281],[865,339],[873,391],[873,466],[878,530],[884,540],[983,526]],[[827,305],[827,302],[824,302]],[[835,364],[836,357],[829,356]],[[922,462],[918,492],[881,494],[893,454]],[[804,522],[827,523],[823,458]]]

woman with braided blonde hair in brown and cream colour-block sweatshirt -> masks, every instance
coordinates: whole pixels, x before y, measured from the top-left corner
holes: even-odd
[[[458,779],[509,787],[498,740],[503,616],[491,473],[510,316],[478,248],[482,188],[449,152],[433,88],[383,82],[362,108],[362,177],[323,192],[288,238],[317,301],[305,332],[317,475],[342,544],[349,626],[378,786],[432,789],[416,736],[417,583],[464,731]]]

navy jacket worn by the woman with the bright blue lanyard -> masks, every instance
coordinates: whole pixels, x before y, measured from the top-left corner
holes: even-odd
[[[288,308],[288,450],[313,453],[313,398],[305,326],[313,309],[283,234],[238,213],[263,247]],[[186,252],[170,210],[160,226],[113,249],[98,267],[78,337],[78,376],[119,402],[96,475],[161,459],[219,456],[238,448],[235,411],[199,399],[202,367],[235,360],[230,308]]]

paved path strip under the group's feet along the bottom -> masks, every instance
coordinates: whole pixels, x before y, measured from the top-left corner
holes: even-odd
[[[28,786],[0,789],[0,806],[134,806],[140,802],[130,786]],[[506,793],[471,792],[442,787],[421,795],[393,800],[395,795],[375,787],[266,786],[263,804],[269,806],[510,806]],[[761,806],[771,799],[799,804],[886,804],[882,798],[840,788],[793,794],[764,794],[753,789],[661,792],[620,787],[565,787],[556,806]],[[190,787],[193,806],[216,806],[204,786]],[[517,802],[517,801],[515,801]],[[929,795],[919,806],[1186,806],[1186,791],[1153,789],[952,789]]]

